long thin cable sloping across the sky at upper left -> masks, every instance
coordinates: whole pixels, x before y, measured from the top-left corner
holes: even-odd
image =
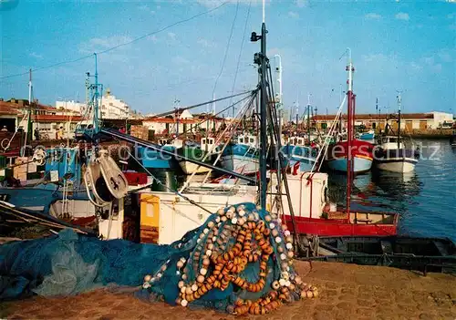
[[[197,14],[197,15],[192,15],[192,16],[190,16],[190,17],[188,17],[188,18],[186,18],[186,19],[182,19],[182,20],[180,20],[180,21],[176,21],[175,23],[173,23],[173,24],[171,24],[171,25],[169,25],[169,26],[163,26],[161,29],[152,31],[152,32],[150,32],[150,33],[148,33],[148,34],[146,34],[146,35],[143,35],[143,36],[138,36],[138,37],[134,38],[134,39],[131,40],[131,41],[124,42],[124,43],[119,44],[119,45],[117,45],[117,46],[111,46],[111,47],[109,47],[109,48],[107,48],[107,49],[105,49],[105,50],[102,50],[102,51],[98,51],[97,54],[98,54],[98,55],[101,55],[101,54],[107,53],[107,52],[109,52],[109,51],[112,51],[112,50],[114,50],[114,49],[117,49],[117,48],[120,47],[120,46],[127,46],[127,45],[130,45],[130,44],[132,44],[132,43],[134,43],[134,42],[137,42],[137,41],[139,41],[139,40],[141,40],[141,39],[143,39],[143,38],[145,38],[145,37],[153,36],[153,35],[156,35],[156,34],[158,34],[158,33],[161,33],[161,32],[163,32],[163,31],[165,31],[165,30],[171,28],[172,26],[178,26],[178,25],[181,25],[181,24],[183,24],[183,23],[185,23],[185,22],[189,22],[189,21],[191,21],[191,20],[193,20],[193,19],[195,19],[195,18],[197,18],[197,17],[199,17],[199,16],[208,15],[208,14],[212,13],[213,11],[215,11],[215,10],[221,8],[223,5],[226,5],[226,4],[228,4],[228,3],[229,3],[229,1],[225,1],[225,2],[223,2],[223,4],[217,5],[217,6],[213,7],[213,8],[210,9],[210,10],[201,12],[201,13],[199,13],[199,14]],[[89,54],[89,55],[86,55],[86,56],[83,56],[83,57],[78,57],[78,58],[76,58],[76,59],[71,59],[71,60],[67,60],[67,61],[57,62],[57,63],[55,63],[55,64],[52,64],[52,65],[49,65],[49,66],[46,66],[46,67],[36,67],[35,69],[32,69],[32,72],[36,72],[36,71],[43,70],[43,69],[47,69],[47,68],[51,68],[51,67],[58,67],[58,66],[62,66],[62,65],[69,64],[69,63],[78,62],[78,61],[87,59],[88,57],[93,57],[93,54]],[[28,75],[28,74],[29,74],[29,71],[22,72],[22,73],[16,73],[16,74],[8,75],[8,76],[5,76],[5,77],[0,77],[0,80],[5,79],[5,78],[9,78],[9,77],[20,77],[20,76],[25,76],[25,75]]]

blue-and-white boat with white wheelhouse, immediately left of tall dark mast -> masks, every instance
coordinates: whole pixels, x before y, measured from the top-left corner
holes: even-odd
[[[236,143],[223,150],[222,166],[226,170],[254,174],[259,170],[258,139],[253,135],[240,135]]]

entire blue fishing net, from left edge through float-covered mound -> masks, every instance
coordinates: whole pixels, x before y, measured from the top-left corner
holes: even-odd
[[[148,301],[264,315],[318,294],[293,270],[290,232],[253,203],[221,209],[170,245],[100,241],[70,230],[0,246],[0,299],[138,287]]]

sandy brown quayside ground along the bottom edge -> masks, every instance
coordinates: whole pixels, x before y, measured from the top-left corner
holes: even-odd
[[[456,276],[342,263],[295,263],[320,295],[285,305],[268,319],[456,319]],[[98,290],[72,297],[35,297],[0,305],[8,319],[234,319],[212,310],[145,303]],[[244,316],[258,318],[261,315]]]

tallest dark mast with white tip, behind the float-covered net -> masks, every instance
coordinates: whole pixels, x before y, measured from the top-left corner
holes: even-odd
[[[266,24],[264,23],[264,0],[263,0],[263,24],[261,26],[261,36],[252,33],[250,41],[256,42],[261,40],[261,52],[254,55],[254,63],[259,65],[260,72],[260,205],[266,208],[266,150],[267,150],[267,109],[266,109]]]

